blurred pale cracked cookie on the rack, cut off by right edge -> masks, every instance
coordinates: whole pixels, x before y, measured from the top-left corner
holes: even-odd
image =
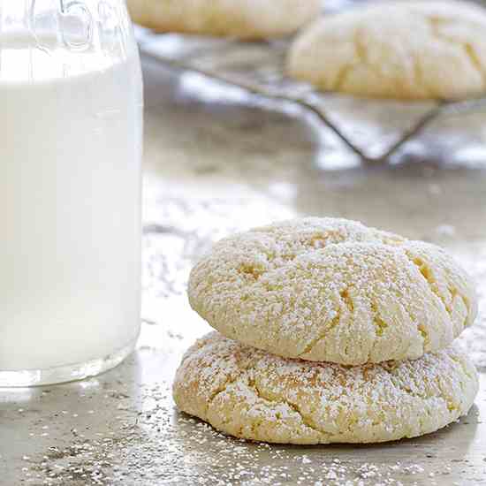
[[[351,95],[464,98],[486,91],[485,30],[486,11],[467,2],[371,4],[308,27],[287,72]]]

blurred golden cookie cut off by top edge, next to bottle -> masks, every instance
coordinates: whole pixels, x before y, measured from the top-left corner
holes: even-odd
[[[321,0],[127,0],[133,21],[157,32],[265,39],[292,34]]]

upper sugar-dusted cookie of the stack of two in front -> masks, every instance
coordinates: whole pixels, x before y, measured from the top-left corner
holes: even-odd
[[[227,338],[346,365],[443,349],[477,308],[473,283],[439,247],[318,217],[222,239],[194,266],[188,296]]]

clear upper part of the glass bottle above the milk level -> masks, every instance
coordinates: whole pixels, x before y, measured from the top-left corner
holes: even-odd
[[[3,85],[72,78],[138,60],[121,0],[64,1],[64,10],[35,10],[40,4],[30,0],[30,10],[16,8],[18,15],[8,24],[5,16],[0,17]]]

